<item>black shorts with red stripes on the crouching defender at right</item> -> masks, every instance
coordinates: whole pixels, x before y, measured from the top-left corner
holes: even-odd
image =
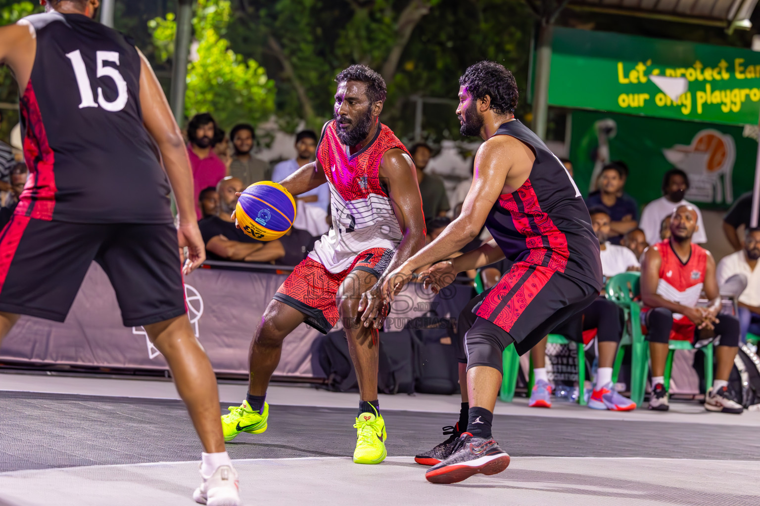
[[[515,262],[471,306],[475,316],[491,322],[496,334],[508,334],[505,341],[515,341],[518,353],[524,354],[597,297],[599,291],[584,281],[548,267]]]

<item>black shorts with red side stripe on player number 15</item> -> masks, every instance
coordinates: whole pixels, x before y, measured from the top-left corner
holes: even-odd
[[[0,232],[0,311],[63,322],[96,261],[125,326],[186,312],[177,231],[171,224],[83,224],[14,215]]]

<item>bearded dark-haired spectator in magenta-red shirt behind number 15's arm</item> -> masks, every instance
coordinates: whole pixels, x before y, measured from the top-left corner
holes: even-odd
[[[195,214],[201,219],[198,196],[201,190],[215,187],[226,175],[227,168],[214,153],[214,137],[217,122],[207,112],[195,115],[188,124],[188,156],[192,166],[193,188],[195,190]]]

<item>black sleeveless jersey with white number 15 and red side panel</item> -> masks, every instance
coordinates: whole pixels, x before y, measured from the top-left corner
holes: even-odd
[[[143,126],[131,40],[81,14],[19,21],[36,36],[21,96],[30,171],[17,214],[79,223],[171,223],[169,181]]]

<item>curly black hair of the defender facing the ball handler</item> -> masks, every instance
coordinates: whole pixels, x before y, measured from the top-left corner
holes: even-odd
[[[459,85],[467,88],[474,99],[491,97],[491,108],[497,115],[514,114],[518,106],[518,83],[515,76],[496,61],[483,60],[470,65]]]

